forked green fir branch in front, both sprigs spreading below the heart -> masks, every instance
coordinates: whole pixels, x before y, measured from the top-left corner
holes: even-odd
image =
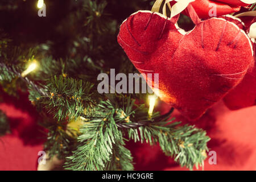
[[[181,166],[192,169],[193,166],[203,164],[209,141],[205,131],[194,126],[180,126],[180,122],[170,123],[174,119],[168,120],[170,114],[164,117],[159,113],[148,116],[148,108],[144,105],[134,105],[135,100],[126,96],[122,100],[123,102],[117,100],[114,103],[109,100],[100,101],[95,115],[85,118],[86,123],[80,129],[80,147],[67,158],[67,169],[105,170],[120,167],[119,163],[115,163],[118,157],[114,159],[112,156],[113,144],[122,148],[122,136],[126,135],[135,142],[147,142],[151,145],[159,143],[163,152],[174,157]],[[120,130],[120,123],[122,126],[143,123],[143,126],[122,127]],[[131,166],[131,156],[127,156],[129,158],[123,163]],[[109,168],[110,163],[114,165],[112,168]]]

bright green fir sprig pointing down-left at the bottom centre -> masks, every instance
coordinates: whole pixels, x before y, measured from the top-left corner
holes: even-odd
[[[96,111],[98,117],[86,122],[78,137],[80,146],[67,158],[66,168],[72,170],[104,170],[112,159],[113,144],[123,140],[115,125],[115,110]]]

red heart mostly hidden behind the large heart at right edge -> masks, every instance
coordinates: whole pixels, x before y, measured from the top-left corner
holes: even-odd
[[[245,16],[242,17],[244,23],[243,30],[246,31],[246,33],[249,33],[250,25],[256,22],[256,18],[253,16]],[[241,20],[233,20],[236,24],[241,24]],[[256,43],[255,41],[252,42],[253,44],[253,51],[254,51],[254,58],[256,53]],[[253,61],[253,64],[251,64],[251,68],[248,70],[248,72],[245,75],[245,78],[243,78],[243,81],[241,84],[237,85],[235,89],[233,89],[231,92],[229,92],[224,97],[224,103],[226,106],[229,107],[231,110],[237,110],[242,109],[244,107],[249,107],[256,105],[256,65],[255,61]]]

